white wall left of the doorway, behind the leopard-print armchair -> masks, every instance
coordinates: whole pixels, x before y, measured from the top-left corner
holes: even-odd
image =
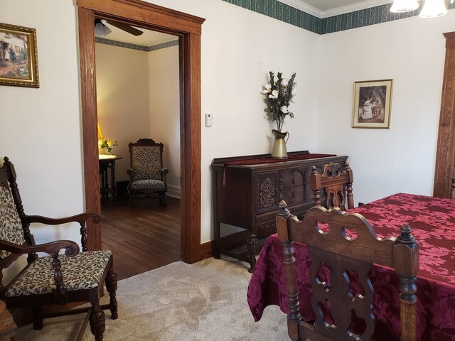
[[[36,28],[40,78],[39,89],[0,87],[0,156],[16,166],[26,214],[75,215],[85,205],[73,0],[0,0],[0,8],[1,23]],[[77,227],[31,231],[37,243],[80,242]]]

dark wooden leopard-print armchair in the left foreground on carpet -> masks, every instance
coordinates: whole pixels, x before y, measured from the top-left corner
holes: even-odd
[[[97,213],[85,212],[73,217],[53,219],[26,215],[16,183],[16,171],[8,158],[0,168],[0,269],[9,267],[19,256],[27,254],[26,267],[10,283],[0,283],[0,298],[8,308],[32,308],[33,328],[43,328],[43,318],[87,312],[77,340],[82,337],[87,322],[95,340],[105,331],[105,313],[109,308],[112,319],[117,318],[117,275],[114,273],[112,252],[87,251],[85,222],[100,222]],[[31,223],[48,225],[80,224],[82,252],[77,243],[59,240],[35,244],[30,233]],[[77,225],[76,225],[77,226]],[[60,254],[60,250],[65,254]],[[37,252],[50,256],[38,257]],[[0,271],[1,274],[1,271]],[[0,276],[0,280],[3,275]],[[109,292],[109,304],[100,305],[103,284]],[[43,305],[90,302],[89,308],[75,308],[60,313],[43,313]]]

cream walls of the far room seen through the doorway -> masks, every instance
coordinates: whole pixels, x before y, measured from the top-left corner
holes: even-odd
[[[177,37],[176,37],[177,38]],[[178,46],[151,52],[96,43],[98,121],[117,141],[116,180],[129,180],[129,142],[164,144],[168,195],[180,197]]]

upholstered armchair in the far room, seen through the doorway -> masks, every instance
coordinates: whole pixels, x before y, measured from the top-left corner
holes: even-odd
[[[139,139],[129,145],[130,168],[128,193],[130,203],[135,198],[159,197],[160,205],[166,205],[168,169],[163,168],[164,145],[153,139]]]

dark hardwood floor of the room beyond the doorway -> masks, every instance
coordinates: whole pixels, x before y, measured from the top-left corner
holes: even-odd
[[[117,279],[131,277],[179,261],[180,200],[166,197],[167,206],[151,198],[116,197],[101,203],[102,247],[114,253]]]

